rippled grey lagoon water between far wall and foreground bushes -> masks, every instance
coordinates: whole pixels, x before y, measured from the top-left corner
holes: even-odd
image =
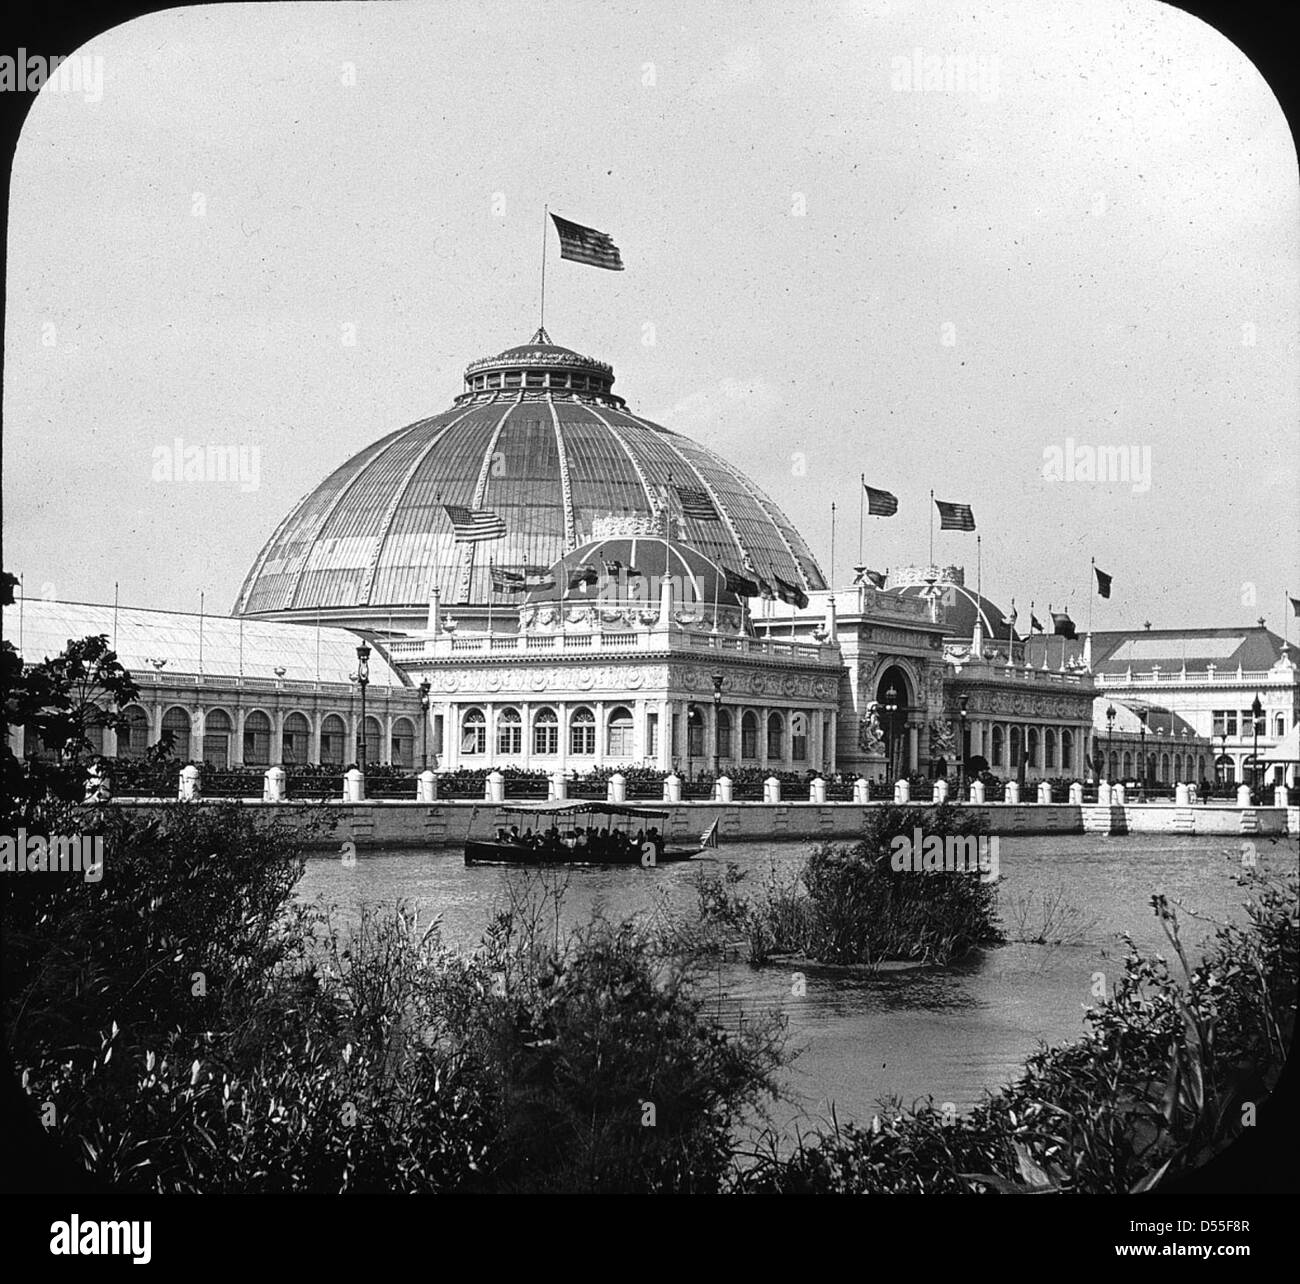
[[[1295,869],[1300,859],[1295,837],[1254,843],[1266,869]],[[1083,919],[1079,944],[1010,944],[946,969],[850,975],[812,967],[805,969],[802,997],[792,993],[789,967],[724,963],[715,977],[719,1010],[729,1020],[771,1008],[788,1018],[789,1045],[800,1055],[786,1080],[792,1101],[774,1111],[788,1129],[824,1123],[832,1109],[841,1122],[864,1123],[887,1097],[910,1105],[932,1096],[966,1110],[1014,1079],[1040,1044],[1083,1033],[1095,975],[1104,975],[1109,993],[1122,972],[1121,933],[1173,962],[1149,905],[1156,890],[1180,905],[1182,934],[1193,957],[1213,936],[1214,921],[1244,921],[1240,849],[1235,838],[1164,834],[1004,837],[1004,928],[1013,934],[1022,901],[1037,903],[1060,892]],[[690,912],[694,866],[706,859],[734,862],[749,871],[754,886],[774,862],[779,869],[794,869],[807,851],[806,842],[728,843],[716,858],[656,869],[573,868],[567,872],[563,915],[578,924],[597,908],[621,919],[664,903]],[[339,924],[355,921],[364,905],[402,899],[419,910],[421,923],[441,916],[448,945],[469,947],[511,888],[520,889],[528,879],[526,871],[465,868],[462,854],[450,849],[372,853],[352,864],[317,855],[308,859],[299,895],[334,905]]]

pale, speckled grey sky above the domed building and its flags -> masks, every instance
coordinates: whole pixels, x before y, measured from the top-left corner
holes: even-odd
[[[304,493],[533,333],[546,204],[627,265],[552,238],[552,339],[741,465],[827,572],[835,503],[837,581],[864,474],[900,500],[867,565],[928,560],[933,490],[1002,607],[1086,623],[1092,558],[1098,629],[1282,632],[1300,597],[1295,146],[1190,14],[212,5],[78,52],[12,175],[31,597],[229,611]],[[178,439],[242,478],[169,480]],[[974,582],[975,535],[933,555]]]

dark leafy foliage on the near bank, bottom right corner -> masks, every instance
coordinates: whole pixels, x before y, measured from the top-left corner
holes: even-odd
[[[1084,1038],[1044,1049],[1013,1086],[958,1116],[892,1103],[874,1127],[768,1133],[738,1172],[748,1192],[1136,1193],[1200,1167],[1254,1122],[1295,1033],[1297,881],[1254,876],[1245,928],[1223,927],[1192,967],[1174,910],[1152,907],[1178,960],[1130,941],[1115,993]]]

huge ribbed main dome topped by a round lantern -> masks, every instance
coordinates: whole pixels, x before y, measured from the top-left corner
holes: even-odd
[[[543,330],[472,363],[451,409],[381,438],[299,500],[255,560],[234,613],[347,608],[382,620],[389,608],[428,603],[436,587],[445,603],[517,603],[493,597],[493,565],[551,567],[597,538],[602,520],[662,533],[666,494],[675,547],[826,587],[768,495],[707,446],[629,412],[612,383],[608,365]],[[693,493],[689,512],[670,485]],[[458,542],[446,506],[494,513],[504,538]]]

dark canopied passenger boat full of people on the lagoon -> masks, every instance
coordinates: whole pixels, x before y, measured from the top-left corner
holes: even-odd
[[[718,846],[715,820],[696,845],[670,847],[658,823],[668,812],[608,802],[547,802],[503,808],[520,820],[500,825],[491,841],[465,842],[467,866],[654,866],[689,860]],[[597,824],[577,824],[595,816]],[[603,820],[603,828],[599,821]],[[632,830],[632,821],[640,821]]]

